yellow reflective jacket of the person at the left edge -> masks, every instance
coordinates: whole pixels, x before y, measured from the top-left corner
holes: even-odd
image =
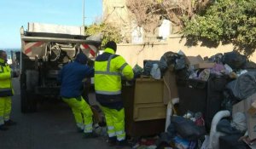
[[[12,89],[11,69],[3,59],[0,59],[0,91],[4,89]]]

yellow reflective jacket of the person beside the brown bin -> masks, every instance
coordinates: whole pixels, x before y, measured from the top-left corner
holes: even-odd
[[[97,56],[95,61],[96,94],[121,94],[121,77],[131,80],[133,75],[131,66],[122,56],[114,54],[113,49],[105,49],[104,53]]]

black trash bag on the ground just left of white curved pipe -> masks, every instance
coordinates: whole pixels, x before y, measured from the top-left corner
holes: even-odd
[[[206,134],[206,129],[195,125],[193,121],[184,117],[172,116],[171,123],[177,131],[177,134],[186,140],[198,140]]]

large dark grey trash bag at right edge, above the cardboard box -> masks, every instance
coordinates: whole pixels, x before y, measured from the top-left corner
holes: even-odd
[[[256,72],[247,72],[242,74],[236,80],[226,85],[231,93],[238,99],[244,100],[250,95],[256,93]]]

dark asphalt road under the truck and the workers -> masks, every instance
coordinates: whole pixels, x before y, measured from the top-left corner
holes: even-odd
[[[11,119],[17,125],[0,131],[0,149],[111,149],[106,137],[84,139],[78,133],[70,108],[63,102],[44,102],[38,112],[20,112],[20,93],[15,93]]]

